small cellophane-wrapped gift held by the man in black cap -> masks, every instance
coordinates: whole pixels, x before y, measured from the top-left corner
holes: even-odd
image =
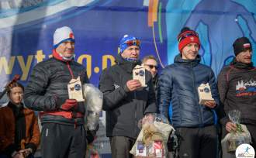
[[[230,121],[237,125],[237,130],[228,133],[221,143],[223,144],[226,142],[227,152],[231,153],[235,152],[237,146],[240,146],[240,144],[251,143],[251,135],[247,130],[246,125],[240,124],[240,111],[232,110],[228,112],[228,116]]]

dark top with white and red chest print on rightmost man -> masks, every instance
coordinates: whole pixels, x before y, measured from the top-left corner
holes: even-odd
[[[253,64],[243,64],[234,60],[223,67],[217,79],[220,93],[223,125],[229,121],[228,112],[239,110],[241,123],[256,125],[256,69]]]

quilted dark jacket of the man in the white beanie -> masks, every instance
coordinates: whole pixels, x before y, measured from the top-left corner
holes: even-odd
[[[81,84],[88,83],[85,67],[74,60],[63,61],[57,57],[44,60],[33,67],[29,82],[25,88],[24,101],[28,108],[43,112],[61,111],[61,105],[68,98],[67,83],[71,81],[71,71],[74,77],[81,77]],[[78,103],[76,112],[85,113],[83,102]],[[73,124],[74,119],[57,115],[43,115],[41,122],[57,122]],[[78,118],[78,125],[83,123],[83,118]]]

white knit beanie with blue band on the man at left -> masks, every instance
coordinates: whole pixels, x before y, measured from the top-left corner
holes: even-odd
[[[56,49],[57,46],[65,41],[74,42],[74,34],[72,29],[67,26],[57,28],[54,32],[54,48]]]

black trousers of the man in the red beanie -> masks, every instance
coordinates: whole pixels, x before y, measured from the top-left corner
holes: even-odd
[[[179,158],[216,158],[218,136],[215,125],[176,128]]]

